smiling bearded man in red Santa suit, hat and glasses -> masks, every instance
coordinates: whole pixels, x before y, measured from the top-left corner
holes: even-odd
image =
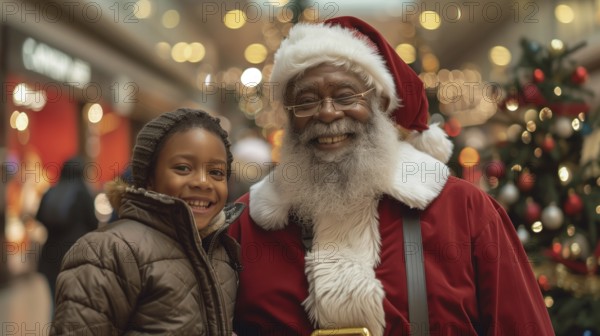
[[[289,122],[229,230],[239,335],[553,334],[513,224],[451,176],[422,82],[373,27],[295,25],[270,82]]]

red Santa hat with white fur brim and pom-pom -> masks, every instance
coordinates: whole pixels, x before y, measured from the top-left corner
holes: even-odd
[[[406,140],[448,161],[453,145],[437,124],[427,124],[429,104],[423,82],[375,28],[351,16],[296,24],[275,53],[270,81],[280,84],[278,98],[283,98],[290,80],[323,63],[346,64],[364,76],[378,96],[389,99],[386,112],[392,120],[411,131]]]

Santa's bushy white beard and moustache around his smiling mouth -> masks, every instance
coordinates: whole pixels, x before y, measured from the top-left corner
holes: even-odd
[[[318,135],[346,132],[355,133],[354,143],[333,153],[309,144]],[[397,143],[397,130],[382,111],[375,112],[367,124],[349,119],[315,123],[300,135],[288,126],[280,166],[294,169],[292,178],[278,181],[278,190],[305,222],[320,214],[345,214],[348,206],[372,201],[389,187]]]

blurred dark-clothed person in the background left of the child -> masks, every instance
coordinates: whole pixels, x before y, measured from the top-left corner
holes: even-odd
[[[35,216],[48,231],[38,271],[48,278],[52,297],[64,255],[77,239],[98,226],[94,195],[85,180],[85,164],[81,156],[64,162],[58,182],[44,193]]]

